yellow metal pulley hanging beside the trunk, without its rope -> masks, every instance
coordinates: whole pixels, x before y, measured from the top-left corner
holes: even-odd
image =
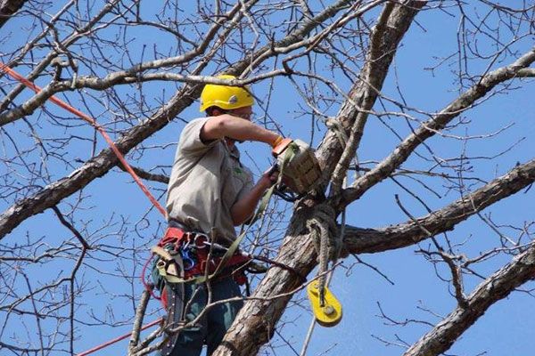
[[[327,287],[324,287],[323,305],[317,280],[309,284],[307,295],[309,295],[312,312],[314,312],[314,317],[319,325],[330,328],[342,320],[342,304]]]

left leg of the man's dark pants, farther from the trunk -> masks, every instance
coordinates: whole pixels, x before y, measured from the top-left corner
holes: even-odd
[[[193,297],[193,299],[192,299]],[[206,306],[206,288],[195,283],[185,284],[185,320],[192,321]],[[189,302],[188,302],[189,301]],[[198,325],[180,330],[177,344],[169,356],[199,356],[202,352],[202,344],[207,335],[207,317],[204,316]]]

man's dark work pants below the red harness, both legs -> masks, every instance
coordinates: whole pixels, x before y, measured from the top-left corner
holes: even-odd
[[[241,296],[240,287],[234,279],[226,277],[210,282],[211,302]],[[192,299],[193,296],[193,300]],[[205,284],[185,284],[185,320],[194,320],[206,306],[208,290]],[[191,301],[190,301],[191,300]],[[190,302],[188,302],[190,301]],[[243,306],[243,301],[215,305],[206,312],[198,325],[180,330],[177,344],[169,356],[199,356],[202,344],[207,344],[210,356],[223,340],[226,331],[235,320],[236,314]]]

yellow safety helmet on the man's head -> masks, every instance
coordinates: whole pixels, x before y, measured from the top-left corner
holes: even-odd
[[[235,79],[235,76],[222,75],[219,79]],[[251,106],[254,99],[249,87],[228,86],[228,85],[204,85],[201,93],[201,109],[204,111],[210,106],[217,106],[221,109],[231,110]]]

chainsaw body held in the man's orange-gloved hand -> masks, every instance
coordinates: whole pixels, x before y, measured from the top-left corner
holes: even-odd
[[[314,150],[307,143],[284,139],[272,153],[282,171],[283,182],[290,190],[303,194],[315,188],[321,177],[321,168]]]

